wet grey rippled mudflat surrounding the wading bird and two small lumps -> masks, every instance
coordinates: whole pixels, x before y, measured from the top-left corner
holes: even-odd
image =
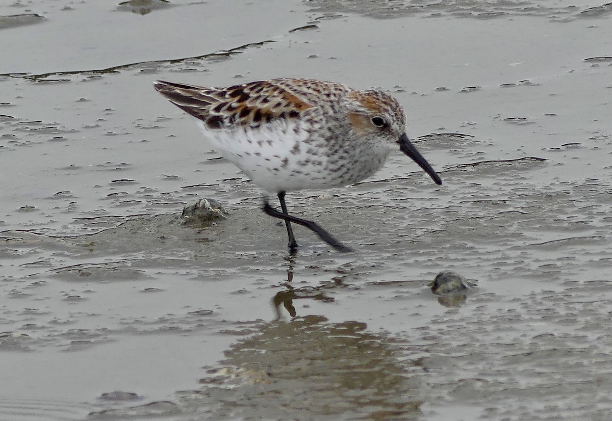
[[[612,25],[588,1],[0,6],[0,420],[612,416]],[[155,79],[389,91],[399,151],[260,210]],[[181,225],[184,204],[230,212]],[[477,288],[427,287],[452,270]],[[295,314],[292,317],[291,314]]]

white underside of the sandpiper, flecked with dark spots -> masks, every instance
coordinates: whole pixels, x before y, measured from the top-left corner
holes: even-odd
[[[224,158],[238,166],[268,193],[323,189],[353,184],[383,166],[384,145],[351,144],[340,151],[323,138],[313,138],[302,122],[262,125],[256,129],[210,130],[198,125]],[[365,150],[363,150],[365,149]],[[333,153],[335,152],[335,153]]]

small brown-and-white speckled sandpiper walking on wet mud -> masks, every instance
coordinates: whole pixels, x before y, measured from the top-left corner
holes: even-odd
[[[341,252],[352,249],[313,221],[290,215],[285,195],[355,184],[376,173],[399,149],[433,181],[442,180],[406,135],[400,103],[378,89],[305,78],[275,78],[209,88],[155,81],[167,100],[196,118],[204,138],[261,187],[263,211],[305,226]],[[277,195],[280,211],[269,203]]]

